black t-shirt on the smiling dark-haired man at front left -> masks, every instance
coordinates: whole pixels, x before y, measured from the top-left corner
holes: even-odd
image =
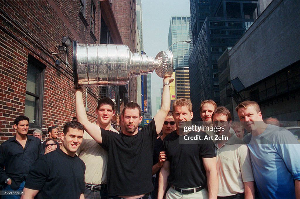
[[[85,190],[85,164],[61,149],[43,155],[32,165],[25,187],[40,190],[37,199],[76,199]]]

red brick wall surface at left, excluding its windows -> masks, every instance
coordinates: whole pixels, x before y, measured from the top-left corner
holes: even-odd
[[[44,65],[44,95],[42,125],[46,132],[55,125],[62,131],[66,122],[75,116],[75,101],[70,89],[72,77],[72,47],[69,47],[68,62],[61,57],[61,65],[54,65],[58,53],[55,45],[61,45],[62,36],[69,36],[80,43],[99,43],[101,11],[96,7],[95,37],[90,27],[79,17],[79,0],[1,1],[0,2],[0,143],[13,136],[13,120],[25,113],[27,65],[29,55]],[[90,23],[91,0],[86,0],[85,19]],[[97,87],[91,93],[97,93]],[[96,118],[97,95],[88,92],[88,118]],[[30,128],[32,132],[33,128]]]

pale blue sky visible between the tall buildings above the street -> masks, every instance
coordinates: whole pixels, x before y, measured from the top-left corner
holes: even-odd
[[[171,16],[190,16],[189,0],[142,0],[143,44],[147,56],[168,49]],[[156,113],[156,97],[161,96],[163,79],[151,74],[152,117]]]

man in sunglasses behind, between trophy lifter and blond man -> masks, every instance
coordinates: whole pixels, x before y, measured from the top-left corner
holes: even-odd
[[[166,154],[164,151],[164,144],[163,140],[164,138],[170,134],[171,132],[176,130],[175,120],[173,117],[173,110],[170,110],[163,128],[162,128],[162,136],[155,140],[154,142],[154,152],[153,152],[153,167],[152,167],[152,175],[155,175],[154,177],[154,190],[152,191],[152,199],[157,198],[158,193],[158,176],[159,172],[161,170],[161,167],[164,164],[164,161],[166,161]]]

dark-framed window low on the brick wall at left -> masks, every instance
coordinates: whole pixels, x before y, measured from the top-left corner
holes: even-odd
[[[30,127],[42,127],[43,91],[45,65],[29,55],[25,97],[25,116],[29,117]]]

